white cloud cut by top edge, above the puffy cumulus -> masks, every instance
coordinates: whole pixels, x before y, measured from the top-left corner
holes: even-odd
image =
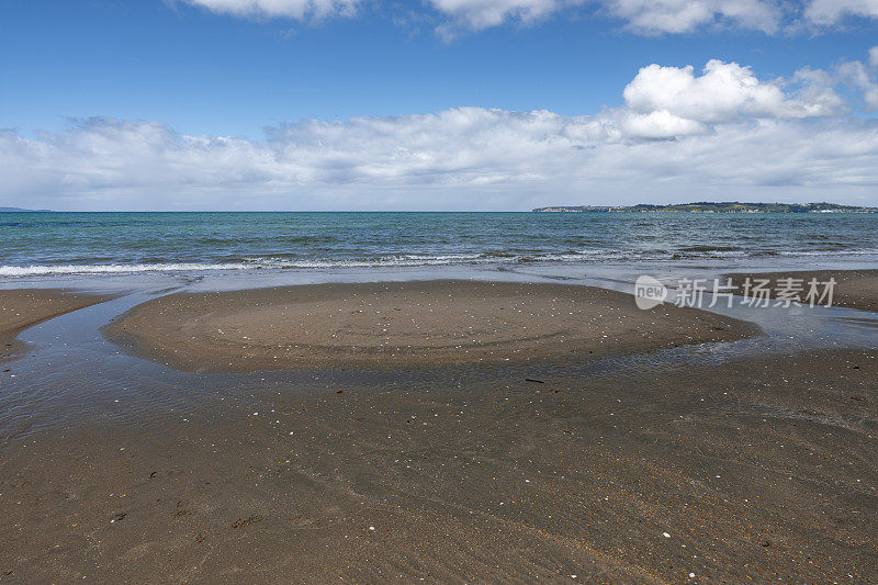
[[[780,11],[772,0],[601,0],[609,12],[632,30],[645,33],[687,33],[698,26],[729,22],[774,33]]]

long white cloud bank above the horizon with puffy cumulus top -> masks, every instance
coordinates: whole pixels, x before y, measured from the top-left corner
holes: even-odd
[[[835,108],[834,74],[800,76],[652,65],[623,105],[595,115],[458,108],[282,124],[261,140],[109,119],[36,137],[2,131],[0,205],[527,209],[680,193],[877,203],[878,121]]]

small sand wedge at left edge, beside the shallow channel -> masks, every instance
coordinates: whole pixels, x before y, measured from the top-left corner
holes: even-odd
[[[0,290],[0,363],[26,349],[26,345],[15,338],[27,327],[105,300],[55,289]]]

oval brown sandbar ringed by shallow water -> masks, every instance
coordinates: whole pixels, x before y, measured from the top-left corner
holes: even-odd
[[[104,328],[181,370],[425,368],[598,355],[757,335],[596,288],[475,281],[319,284],[171,294]]]

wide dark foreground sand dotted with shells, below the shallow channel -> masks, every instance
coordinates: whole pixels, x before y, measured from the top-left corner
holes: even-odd
[[[875,350],[834,350],[230,387],[148,430],[4,447],[0,576],[875,583],[876,380]]]

